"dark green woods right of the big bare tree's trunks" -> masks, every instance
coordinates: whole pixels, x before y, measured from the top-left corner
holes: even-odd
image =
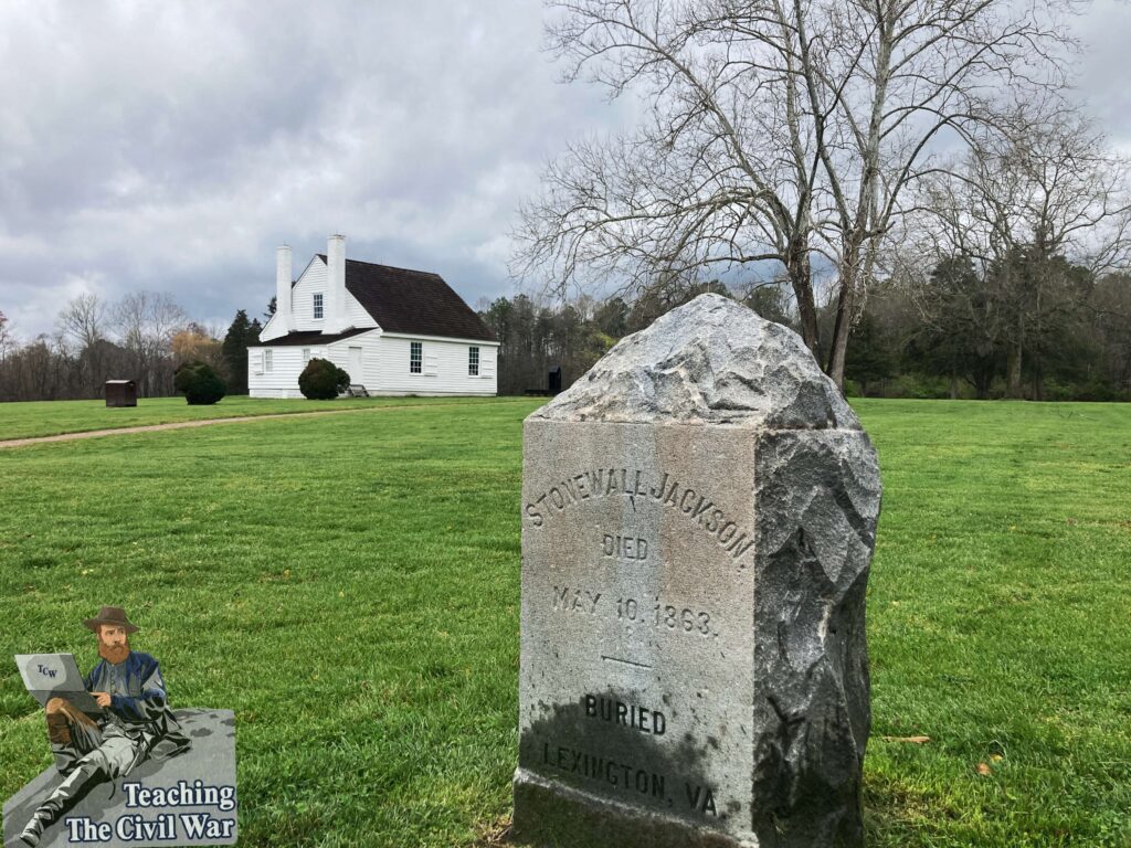
[[[1097,279],[1021,252],[984,270],[956,257],[929,278],[925,292],[888,283],[870,293],[849,348],[849,393],[1131,400],[1128,274]]]

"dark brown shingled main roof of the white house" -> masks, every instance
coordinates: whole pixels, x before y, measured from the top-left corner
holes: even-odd
[[[325,253],[318,258],[326,261]],[[346,289],[386,332],[495,340],[438,274],[347,259]]]

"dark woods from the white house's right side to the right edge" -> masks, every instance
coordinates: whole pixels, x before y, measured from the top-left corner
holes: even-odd
[[[873,286],[862,306],[845,363],[851,396],[1131,400],[1131,275],[1096,278],[1061,258],[1028,253],[976,269],[967,257]],[[1039,280],[1035,279],[1039,277]],[[1039,292],[1029,297],[1018,292]],[[924,287],[925,284],[925,287]],[[801,332],[802,319],[782,283],[726,286],[718,280],[620,296],[539,305],[525,294],[480,311],[500,341],[499,393],[562,386],[581,377],[619,339],[703,293],[744,303],[762,318]],[[836,302],[814,304],[821,337],[831,338]],[[1018,349],[1013,328],[1027,328]],[[818,349],[818,357],[828,349]]]

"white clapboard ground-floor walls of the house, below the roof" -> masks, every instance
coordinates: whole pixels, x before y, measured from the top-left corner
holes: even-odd
[[[325,270],[325,266],[323,266]],[[297,288],[297,286],[295,286]],[[408,371],[409,343],[423,345],[423,373]],[[480,348],[480,375],[467,373],[467,348]],[[353,373],[349,348],[362,348],[362,373]],[[270,349],[271,372],[262,367]],[[299,374],[305,367],[302,347],[248,348],[248,388],[253,398],[301,398]],[[388,336],[380,330],[363,332],[330,345],[311,345],[311,356],[329,360],[362,383],[371,395],[490,395],[498,393],[499,346],[490,341],[458,341],[429,336]]]

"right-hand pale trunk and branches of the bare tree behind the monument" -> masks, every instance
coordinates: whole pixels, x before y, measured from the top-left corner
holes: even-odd
[[[1053,17],[998,0],[793,0],[828,220],[821,230],[839,289],[826,371],[844,382],[848,338],[882,240],[909,185],[940,168],[941,137],[968,140],[993,114],[987,85],[1056,88],[1052,53],[1068,46]],[[1052,7],[1050,7],[1052,9]]]

